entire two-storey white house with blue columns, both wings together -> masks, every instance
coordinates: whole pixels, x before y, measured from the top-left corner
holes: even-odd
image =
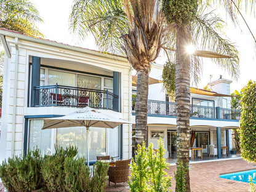
[[[38,146],[54,153],[54,146],[76,145],[86,155],[83,127],[41,130],[42,118],[62,116],[83,106],[135,122],[132,67],[125,57],[31,38],[0,28],[5,49],[0,161],[26,153]],[[162,66],[153,65],[151,78],[161,79]],[[191,88],[193,147],[209,153],[209,145],[230,150],[231,129],[239,127],[239,114],[230,109],[230,83],[211,82],[212,91]],[[174,157],[176,139],[175,103],[169,102],[162,84],[152,84],[148,96],[148,139],[157,145],[164,139],[166,158]],[[124,124],[115,129],[90,130],[90,157],[132,157],[132,129]],[[223,150],[223,153],[225,150]]]

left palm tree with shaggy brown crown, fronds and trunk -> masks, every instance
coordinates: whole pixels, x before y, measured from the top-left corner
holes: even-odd
[[[146,140],[148,74],[151,63],[156,60],[161,48],[173,48],[175,45],[174,28],[167,25],[161,4],[161,0],[76,0],[70,15],[74,33],[82,39],[88,33],[94,34],[101,50],[125,54],[138,72],[135,146],[142,145]],[[209,29],[214,31],[211,26]],[[231,46],[224,39],[221,40]],[[224,49],[223,44],[220,47]],[[236,49],[228,54],[234,52]],[[235,62],[237,60],[231,61]]]

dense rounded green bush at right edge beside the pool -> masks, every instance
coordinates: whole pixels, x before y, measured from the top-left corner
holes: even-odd
[[[240,147],[242,158],[256,162],[256,82],[241,90]]]

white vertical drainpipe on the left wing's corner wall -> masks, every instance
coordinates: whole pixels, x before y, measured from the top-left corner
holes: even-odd
[[[15,72],[14,72],[14,105],[12,108],[12,148],[11,156],[14,157],[15,143],[15,124],[16,124],[16,106],[17,106],[17,79],[18,79],[18,38],[15,38]]]

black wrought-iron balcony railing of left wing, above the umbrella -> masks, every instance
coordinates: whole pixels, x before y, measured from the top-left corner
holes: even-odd
[[[108,90],[79,87],[36,86],[33,106],[71,106],[119,111],[119,97]]]

